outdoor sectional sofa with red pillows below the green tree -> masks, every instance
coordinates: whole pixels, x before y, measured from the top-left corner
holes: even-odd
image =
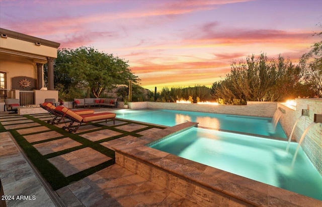
[[[117,98],[74,98],[72,108],[77,107],[111,107],[117,108]]]

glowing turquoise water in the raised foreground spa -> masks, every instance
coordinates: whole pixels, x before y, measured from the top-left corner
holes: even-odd
[[[297,143],[191,128],[148,146],[266,184],[322,200],[322,176]]]

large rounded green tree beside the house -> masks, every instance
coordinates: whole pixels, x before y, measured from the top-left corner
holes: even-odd
[[[89,87],[95,97],[100,97],[105,89],[127,84],[129,80],[139,81],[127,61],[92,47],[58,50],[54,77],[55,87],[63,93]]]

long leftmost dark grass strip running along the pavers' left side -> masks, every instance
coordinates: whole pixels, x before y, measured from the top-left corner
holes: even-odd
[[[53,164],[45,159],[44,156],[42,156],[22,135],[16,130],[9,131],[53,189],[59,189],[61,186],[69,184],[66,177]]]

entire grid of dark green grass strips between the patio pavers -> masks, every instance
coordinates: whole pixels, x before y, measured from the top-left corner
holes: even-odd
[[[133,132],[127,132],[127,131],[123,131],[120,129],[117,129],[115,127],[117,126],[122,126],[122,125],[126,125],[126,124],[137,124],[135,122],[132,121],[125,121],[127,122],[126,124],[121,124],[121,125],[115,125],[115,126],[106,126],[106,125],[100,125],[99,123],[89,123],[91,125],[94,125],[96,127],[99,127],[100,129],[95,129],[95,130],[90,130],[87,132],[82,132],[82,133],[78,133],[78,134],[72,134],[67,132],[66,130],[63,130],[59,127],[56,127],[55,125],[51,125],[48,124],[45,121],[39,120],[38,118],[34,118],[30,115],[24,115],[23,117],[28,118],[29,120],[32,120],[42,126],[45,126],[47,128],[49,128],[52,131],[56,131],[57,133],[60,133],[62,136],[56,137],[56,138],[52,138],[52,139],[48,139],[48,140],[43,140],[43,141],[37,141],[37,142],[33,142],[33,143],[29,143],[24,136],[26,135],[20,135],[17,130],[18,129],[11,129],[11,130],[6,130],[5,127],[0,123],[0,132],[6,132],[9,131],[13,137],[16,139],[17,143],[20,145],[20,147],[24,150],[24,152],[26,153],[26,155],[28,156],[28,158],[31,160],[31,162],[37,167],[37,169],[39,170],[39,172],[42,174],[42,176],[47,180],[47,182],[51,185],[51,187],[54,190],[57,190],[61,187],[64,187],[68,184],[70,184],[71,182],[74,181],[78,181],[81,180],[99,170],[102,170],[108,166],[111,166],[115,163],[115,152],[111,149],[108,149],[106,147],[104,147],[103,145],[101,145],[100,143],[102,142],[106,142],[106,141],[110,141],[110,140],[114,140],[114,139],[118,139],[121,137],[125,137],[128,135],[134,136],[134,137],[140,137],[142,135],[136,134],[137,132],[140,131],[144,131],[147,130],[149,128],[159,128],[159,129],[165,129],[165,127],[159,127],[159,126],[154,126],[154,125],[149,125],[149,124],[141,124],[140,125],[144,125],[146,126],[146,128],[143,129],[139,129]],[[120,120],[123,121],[124,120]],[[29,127],[28,127],[29,128]],[[21,129],[21,128],[19,128]],[[106,139],[102,139],[99,141],[91,141],[88,140],[84,137],[81,137],[79,135],[85,134],[85,133],[89,133],[89,132],[95,132],[95,131],[100,131],[102,129],[110,129],[119,133],[122,133],[122,135],[117,135],[114,137],[110,137],[110,138],[106,138]],[[46,131],[48,132],[48,130]],[[35,133],[29,133],[27,135],[32,135],[32,134],[39,134],[42,132],[35,132]],[[38,143],[45,143],[45,142],[49,142],[49,141],[53,141],[53,140],[57,140],[57,139],[61,139],[64,137],[68,137],[76,142],[81,143],[82,145],[80,146],[76,146],[76,147],[72,147],[72,148],[68,148],[68,149],[64,149],[58,152],[53,152],[47,155],[42,155],[34,146],[33,144],[38,144]],[[110,158],[112,158],[109,161],[103,162],[101,164],[98,164],[96,166],[90,167],[88,169],[85,169],[83,171],[77,172],[75,174],[72,174],[70,176],[65,177],[53,164],[51,164],[47,159],[49,158],[53,158],[59,155],[63,155],[69,152],[73,152],[79,149],[83,149],[86,147],[90,147]]]

